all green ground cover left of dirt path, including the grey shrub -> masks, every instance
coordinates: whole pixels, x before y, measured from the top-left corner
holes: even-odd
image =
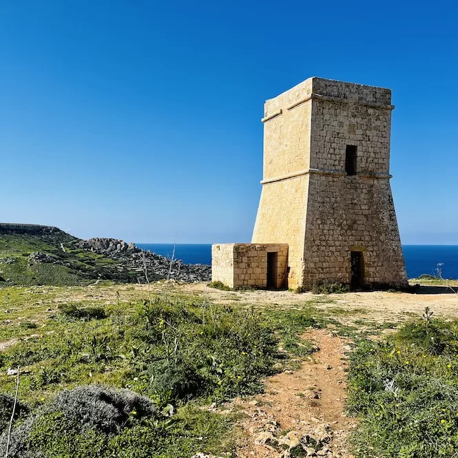
[[[110,292],[108,305],[105,299],[74,300],[83,291],[78,288],[70,295],[73,300],[51,308],[65,289],[0,291],[8,312],[3,316],[20,323],[0,322],[2,340],[19,338],[0,353],[5,393],[0,455],[15,384],[6,370],[16,366],[21,366],[23,410],[17,409],[14,421],[16,451],[8,456],[32,457],[43,450],[56,458],[230,452],[235,414],[210,413],[200,405],[262,390],[261,379],[274,373],[278,357],[273,322],[265,323],[251,309],[179,294],[139,300],[126,287],[121,300],[112,290],[97,287],[94,293]],[[138,406],[145,402],[149,408]],[[97,424],[88,420],[92,413],[85,415],[93,404],[102,415]],[[113,419],[113,428],[101,429]]]

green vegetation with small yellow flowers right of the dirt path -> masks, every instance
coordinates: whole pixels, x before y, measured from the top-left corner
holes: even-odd
[[[351,355],[348,408],[358,457],[456,457],[458,320],[409,322]]]

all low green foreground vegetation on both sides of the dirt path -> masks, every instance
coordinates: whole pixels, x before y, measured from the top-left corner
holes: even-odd
[[[0,342],[10,342],[0,353],[1,456],[16,382],[6,372],[16,366],[12,450],[19,451],[8,456],[233,452],[237,414],[208,404],[259,393],[263,377],[316,350],[307,330],[326,327],[356,346],[348,410],[360,418],[357,458],[452,458],[458,450],[458,320],[426,309],[420,320],[404,314],[405,324],[377,322],[326,295],[254,309],[155,288],[151,298],[132,285],[0,289]]]

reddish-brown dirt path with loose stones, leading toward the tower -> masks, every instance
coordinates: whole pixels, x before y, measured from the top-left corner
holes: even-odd
[[[344,414],[346,362],[342,359],[348,344],[325,329],[310,331],[304,338],[320,348],[309,361],[298,371],[270,377],[264,394],[236,400],[236,408],[247,413],[238,458],[353,456],[346,450],[346,437],[355,420]]]

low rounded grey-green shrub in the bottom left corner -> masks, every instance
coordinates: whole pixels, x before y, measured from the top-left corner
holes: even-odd
[[[12,430],[10,457],[87,456],[104,452],[110,439],[125,428],[155,419],[156,407],[128,390],[105,386],[78,386],[62,391]],[[0,455],[6,452],[7,433],[0,437]]]

